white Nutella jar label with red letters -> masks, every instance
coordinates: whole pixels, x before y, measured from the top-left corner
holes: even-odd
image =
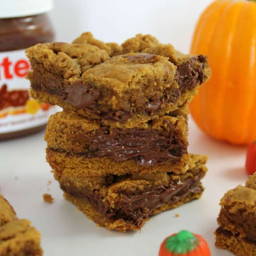
[[[56,107],[29,97],[25,50],[0,52],[0,134],[46,124]]]

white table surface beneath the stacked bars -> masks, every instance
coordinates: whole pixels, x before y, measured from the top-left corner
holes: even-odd
[[[189,127],[189,152],[209,155],[204,194],[199,200],[151,217],[141,232],[123,234],[98,228],[63,198],[45,161],[44,132],[0,142],[0,194],[13,205],[19,218],[31,220],[41,231],[45,256],[157,256],[162,240],[181,229],[202,235],[212,256],[232,255],[215,248],[213,232],[220,198],[228,189],[244,185],[248,177],[244,170],[246,148],[209,138],[191,118]],[[49,180],[52,183],[47,185]],[[44,202],[44,193],[52,194],[53,204]],[[175,214],[180,216],[176,218]]]

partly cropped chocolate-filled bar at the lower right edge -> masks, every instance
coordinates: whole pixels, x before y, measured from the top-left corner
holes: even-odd
[[[239,256],[256,255],[256,174],[220,200],[215,245]]]

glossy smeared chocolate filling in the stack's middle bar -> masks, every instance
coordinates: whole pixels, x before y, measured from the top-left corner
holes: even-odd
[[[187,153],[188,145],[180,141],[168,120],[164,120],[163,124],[167,124],[169,132],[165,129],[114,128],[108,133],[108,130],[100,128],[88,137],[86,150],[75,154],[84,157],[108,157],[116,162],[132,158],[138,165],[148,166],[179,160]]]

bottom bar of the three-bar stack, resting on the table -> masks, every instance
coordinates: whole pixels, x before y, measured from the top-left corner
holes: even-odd
[[[170,172],[141,171],[124,175],[76,177],[54,172],[67,200],[101,227],[125,232],[140,230],[149,216],[197,199],[206,156],[187,154],[186,163]]]

